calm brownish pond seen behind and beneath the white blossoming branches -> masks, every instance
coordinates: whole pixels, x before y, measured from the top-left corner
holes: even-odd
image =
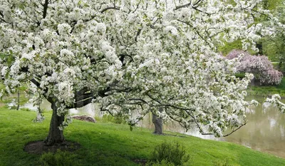
[[[251,96],[247,98],[247,100],[252,99],[258,100],[259,102],[264,100],[264,98],[259,96]],[[24,107],[36,110],[36,108],[32,107],[32,105],[28,103],[24,105]],[[51,105],[47,101],[44,101],[41,108],[50,110]],[[86,105],[86,107],[78,108],[78,110],[72,109],[71,114],[87,114],[98,117],[103,115],[98,111],[98,107],[95,104]],[[265,108],[264,105],[260,104],[257,107],[252,106],[247,110],[247,120],[247,125],[225,138],[214,138],[210,135],[200,135],[198,130],[195,128],[186,132],[177,123],[165,124],[164,130],[194,135],[204,139],[234,142],[250,147],[254,150],[269,152],[273,155],[285,158],[285,114],[279,113],[279,111],[273,106]],[[151,115],[147,115],[138,126],[153,129],[154,127],[152,125]]]

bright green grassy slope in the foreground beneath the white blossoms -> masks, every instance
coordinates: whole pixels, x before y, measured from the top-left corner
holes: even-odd
[[[38,165],[40,155],[23,151],[24,145],[42,140],[48,133],[51,115],[43,123],[33,123],[34,112],[0,108],[0,165]],[[285,165],[285,160],[241,145],[191,136],[152,135],[150,130],[112,123],[87,123],[74,120],[65,130],[68,140],[80,142],[77,160],[86,165],[136,165],[134,159],[148,159],[155,145],[176,140],[186,145],[191,159],[186,165]]]

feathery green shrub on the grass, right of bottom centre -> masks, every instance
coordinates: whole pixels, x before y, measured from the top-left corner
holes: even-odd
[[[190,159],[190,155],[187,155],[185,146],[180,145],[179,142],[163,142],[155,147],[151,159],[157,162],[166,160],[174,165],[183,165]]]

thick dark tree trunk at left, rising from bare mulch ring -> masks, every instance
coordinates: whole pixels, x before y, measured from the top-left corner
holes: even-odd
[[[51,108],[53,109],[53,115],[51,116],[51,123],[49,126],[48,137],[45,140],[45,144],[48,146],[52,145],[66,145],[66,140],[63,137],[63,130],[59,130],[60,126],[64,121],[64,116],[57,115],[56,104],[52,103]]]

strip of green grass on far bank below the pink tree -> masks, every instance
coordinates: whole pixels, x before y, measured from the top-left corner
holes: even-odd
[[[285,98],[285,77],[282,78],[281,83],[279,85],[250,85],[247,90],[249,95],[261,95],[268,96],[279,93],[281,97]]]

